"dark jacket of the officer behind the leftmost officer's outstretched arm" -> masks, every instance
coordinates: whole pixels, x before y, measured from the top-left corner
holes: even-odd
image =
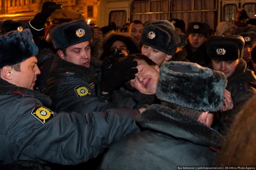
[[[97,69],[70,63],[56,55],[46,85],[52,109],[101,111],[115,108],[114,104],[100,98],[96,72]]]

